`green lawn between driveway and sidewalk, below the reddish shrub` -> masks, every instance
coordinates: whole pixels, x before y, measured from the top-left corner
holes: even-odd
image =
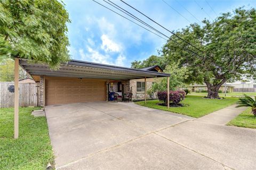
[[[238,101],[237,98],[225,98],[225,99],[203,99],[202,96],[188,95],[182,103],[188,104],[185,107],[170,107],[167,109],[165,106],[159,106],[159,100],[148,100],[147,107],[155,108],[160,110],[166,110],[171,112],[176,112],[178,114],[187,115],[191,117],[202,117],[204,115],[210,114],[213,111],[230,106]],[[145,106],[144,101],[135,102],[141,106]]]

